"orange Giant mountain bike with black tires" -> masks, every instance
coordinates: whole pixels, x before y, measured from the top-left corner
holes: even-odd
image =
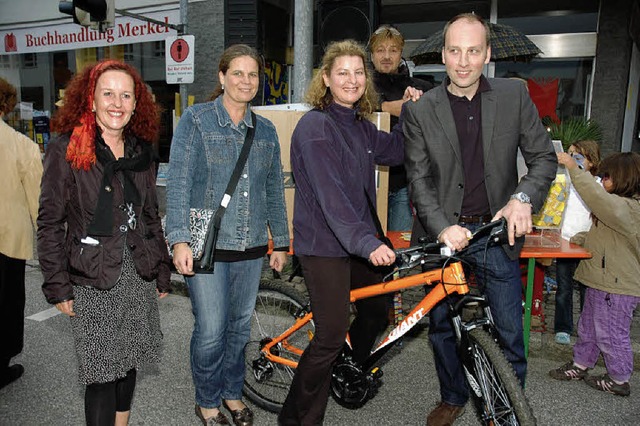
[[[489,223],[473,234],[470,245],[487,236],[489,243],[506,239],[504,220]],[[511,364],[498,344],[488,303],[470,294],[458,252],[425,243],[395,250],[395,273],[405,275],[352,290],[351,302],[417,286],[431,286],[406,317],[371,351],[363,365],[351,359],[349,336],[331,378],[333,398],[347,408],[359,408],[380,385],[380,358],[438,303],[448,303],[460,359],[478,417],[487,425],[535,425],[536,419]],[[419,270],[418,272],[415,272]],[[456,294],[460,297],[452,298]],[[245,349],[245,395],[256,405],[279,412],[289,391],[298,359],[314,335],[313,313],[302,292],[282,282],[263,281]]]

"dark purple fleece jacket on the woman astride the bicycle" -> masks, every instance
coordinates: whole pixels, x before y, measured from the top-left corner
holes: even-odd
[[[387,133],[335,103],[306,113],[291,139],[296,254],[369,258],[381,243],[364,190],[375,205],[375,165],[403,161],[402,120]]]

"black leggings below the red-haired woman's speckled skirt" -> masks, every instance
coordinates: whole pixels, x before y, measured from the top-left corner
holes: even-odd
[[[129,411],[136,388],[136,369],[121,379],[87,385],[84,393],[84,414],[87,426],[112,426],[116,411]]]

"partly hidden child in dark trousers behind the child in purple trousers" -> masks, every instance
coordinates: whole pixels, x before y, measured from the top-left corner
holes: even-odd
[[[575,142],[569,146],[567,153],[574,157],[578,167],[595,176],[600,164],[600,147],[592,140]],[[570,240],[578,232],[588,231],[591,228],[591,210],[585,206],[582,198],[576,192],[573,185],[569,187],[564,220],[562,221],[562,238]],[[556,260],[556,312],[554,317],[554,330],[556,343],[568,345],[571,343],[573,332],[573,274],[580,263],[580,259]],[[584,286],[580,284],[580,310],[584,298]]]

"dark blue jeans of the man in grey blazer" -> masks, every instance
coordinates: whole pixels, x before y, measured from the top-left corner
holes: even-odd
[[[472,232],[478,225],[465,225]],[[522,332],[522,281],[520,264],[511,260],[500,246],[490,245],[484,259],[486,237],[468,248],[463,258],[473,266],[479,286],[489,301],[500,343],[516,375],[524,383],[527,360]],[[429,339],[433,346],[442,402],[462,406],[469,399],[463,367],[448,305],[439,303],[431,311]]]

